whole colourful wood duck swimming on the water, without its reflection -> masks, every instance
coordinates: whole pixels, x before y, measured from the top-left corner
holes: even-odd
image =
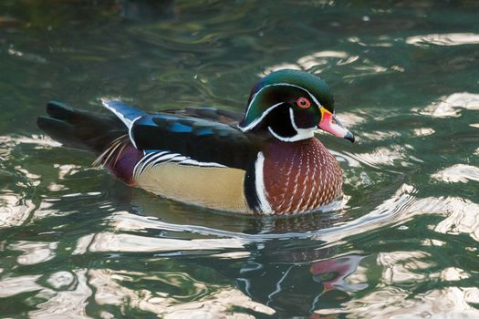
[[[245,115],[216,108],[149,114],[102,100],[113,115],[50,102],[38,126],[95,165],[166,198],[218,211],[286,215],[318,211],[342,195],[338,161],[315,138],[354,141],[319,77],[279,70],[251,90]]]

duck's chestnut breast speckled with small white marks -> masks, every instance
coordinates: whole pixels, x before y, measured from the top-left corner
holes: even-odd
[[[342,193],[338,161],[316,138],[275,140],[264,156],[265,197],[274,214],[315,211]]]

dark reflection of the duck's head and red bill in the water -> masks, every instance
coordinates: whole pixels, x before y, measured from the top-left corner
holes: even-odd
[[[320,307],[321,297],[330,291],[335,291],[335,300],[345,301],[349,292],[368,287],[366,283],[347,280],[357,271],[364,255],[328,258],[337,253],[335,247],[268,252],[246,262],[236,284],[243,293],[273,308],[280,317],[313,314]]]

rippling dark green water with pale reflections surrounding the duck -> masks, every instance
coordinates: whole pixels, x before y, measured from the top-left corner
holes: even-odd
[[[479,5],[0,3],[0,317],[479,317]],[[36,128],[98,110],[243,110],[305,68],[358,143],[340,211],[246,218],[130,189]]]

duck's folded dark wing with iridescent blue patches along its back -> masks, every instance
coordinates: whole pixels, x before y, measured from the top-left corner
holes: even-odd
[[[147,114],[118,101],[103,104],[123,121],[129,129],[131,143],[145,153],[168,152],[191,160],[194,165],[220,164],[247,170],[261,149],[261,140],[255,136],[246,135],[234,125],[207,119],[235,120],[235,115],[217,109],[190,108]]]

